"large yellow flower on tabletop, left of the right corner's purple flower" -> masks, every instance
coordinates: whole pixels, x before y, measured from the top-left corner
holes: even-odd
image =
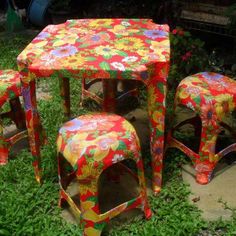
[[[140,49],[144,46],[143,41],[139,38],[124,37],[115,42],[115,47],[120,50]]]

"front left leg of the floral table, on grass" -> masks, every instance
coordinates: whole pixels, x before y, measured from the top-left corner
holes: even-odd
[[[39,114],[37,112],[35,80],[24,83],[22,82],[22,96],[24,99],[24,109],[26,118],[26,127],[29,135],[29,143],[31,153],[33,155],[33,166],[35,178],[37,182],[41,182],[41,158],[40,144],[42,134],[42,126],[40,123]]]

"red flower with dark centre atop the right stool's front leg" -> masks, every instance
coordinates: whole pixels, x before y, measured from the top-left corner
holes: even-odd
[[[216,110],[212,103],[207,103],[201,107],[202,125],[204,126],[216,126]]]

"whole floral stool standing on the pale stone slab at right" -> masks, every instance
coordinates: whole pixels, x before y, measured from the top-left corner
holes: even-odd
[[[236,108],[236,81],[217,73],[202,72],[183,79],[175,95],[175,111],[185,106],[196,116],[186,119],[169,132],[167,147],[176,147],[191,158],[196,170],[196,181],[207,184],[218,161],[228,153],[236,151],[236,143],[216,153],[218,135],[228,130],[236,133],[223,120]],[[197,127],[198,124],[201,127]],[[200,136],[198,153],[173,137],[173,132],[185,124],[195,126],[195,135]]]

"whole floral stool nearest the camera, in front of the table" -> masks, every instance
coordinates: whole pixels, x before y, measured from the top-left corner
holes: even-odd
[[[60,205],[62,201],[70,205],[84,227],[84,235],[101,235],[111,218],[128,209],[140,207],[147,219],[151,217],[139,139],[133,126],[124,118],[108,113],[79,116],[60,128],[57,151]],[[105,213],[100,213],[99,177],[108,167],[125,159],[136,163],[140,194]],[[65,164],[69,164],[72,171],[68,171]],[[66,192],[74,178],[79,183],[80,207]]]

